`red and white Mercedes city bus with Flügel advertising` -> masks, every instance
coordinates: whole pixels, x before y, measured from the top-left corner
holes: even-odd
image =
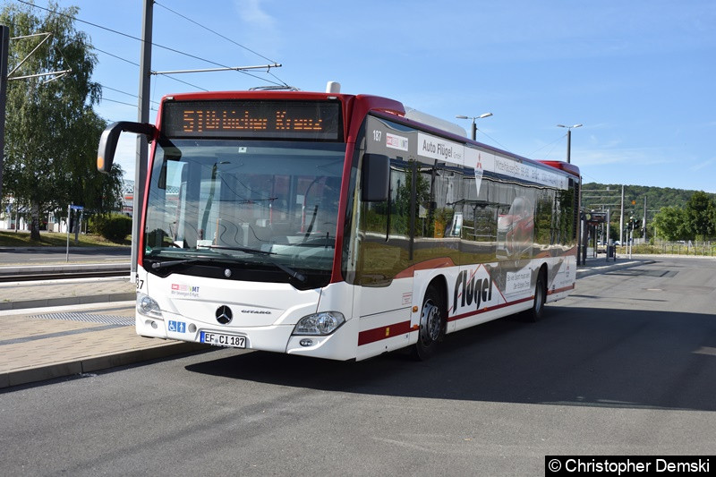
[[[336,92],[162,99],[141,210],[141,336],[362,360],[575,286],[579,171]]]

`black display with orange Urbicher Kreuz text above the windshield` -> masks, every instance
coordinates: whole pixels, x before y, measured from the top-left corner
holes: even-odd
[[[169,138],[343,141],[337,101],[167,101],[161,130]]]

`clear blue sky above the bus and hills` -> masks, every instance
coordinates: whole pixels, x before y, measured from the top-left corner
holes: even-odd
[[[59,3],[79,6],[82,21],[141,37],[142,0]],[[136,106],[111,100],[136,104],[139,67],[125,60],[139,64],[139,41],[77,27],[103,51],[93,78],[106,87],[99,114],[136,120]],[[153,76],[155,101],[194,86],[324,90],[339,81],[344,93],[394,98],[468,132],[470,121],[456,115],[491,112],[478,120],[478,141],[528,158],[564,160],[567,131],[556,125],[584,124],[572,131],[571,158],[585,183],[716,193],[712,0],[158,0],[153,42],[155,71],[212,67],[164,47],[227,66],[283,65],[254,76]],[[133,178],[128,139],[118,161]]]

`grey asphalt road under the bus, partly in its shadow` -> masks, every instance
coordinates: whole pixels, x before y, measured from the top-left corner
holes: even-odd
[[[7,475],[541,475],[547,455],[713,455],[716,261],[580,279],[430,362],[219,350],[0,394]]]

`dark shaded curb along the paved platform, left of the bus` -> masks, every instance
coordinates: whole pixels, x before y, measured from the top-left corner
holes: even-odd
[[[158,345],[145,349],[124,351],[107,354],[105,356],[92,356],[86,359],[58,362],[26,370],[7,371],[0,374],[0,389],[46,381],[47,379],[64,378],[93,371],[107,370],[136,362],[147,362],[166,358],[167,356],[175,354],[209,351],[211,349],[213,349],[213,346],[210,345],[170,341],[167,342],[166,345]]]

